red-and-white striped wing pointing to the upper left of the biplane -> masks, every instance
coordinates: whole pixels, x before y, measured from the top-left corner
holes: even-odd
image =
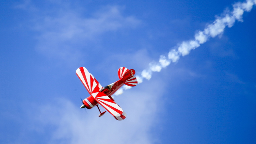
[[[92,74],[88,72],[85,67],[78,68],[76,70],[76,75],[84,84],[89,94],[99,92],[99,90],[102,88],[101,84],[99,84],[99,82],[92,76]]]

